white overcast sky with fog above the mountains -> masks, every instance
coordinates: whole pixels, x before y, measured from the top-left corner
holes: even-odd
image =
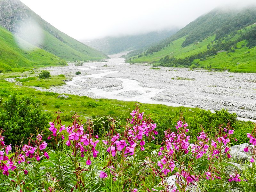
[[[256,0],[21,0],[77,40],[132,35],[186,26],[217,6]]]

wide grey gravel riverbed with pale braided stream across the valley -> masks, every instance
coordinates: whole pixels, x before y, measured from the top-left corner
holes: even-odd
[[[51,75],[66,75],[70,81],[47,90],[91,98],[108,98],[169,106],[226,108],[239,117],[256,119],[256,75],[188,68],[153,68],[125,63],[122,54],[104,62],[70,63],[48,67]],[[158,69],[160,68],[160,69]],[[80,71],[80,75],[75,75]]]

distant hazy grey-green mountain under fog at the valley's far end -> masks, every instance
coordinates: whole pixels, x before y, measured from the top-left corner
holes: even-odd
[[[162,41],[177,32],[178,29],[153,31],[140,35],[127,35],[119,37],[104,37],[92,41],[82,41],[84,44],[100,50],[106,54],[149,48],[149,45]]]

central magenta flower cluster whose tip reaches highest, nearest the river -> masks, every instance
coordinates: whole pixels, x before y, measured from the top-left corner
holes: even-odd
[[[132,111],[131,116],[132,119],[130,122],[128,121],[124,133],[120,134],[112,129],[112,132],[108,133],[106,140],[102,140],[110,155],[108,168],[114,176],[114,180],[116,180],[119,172],[116,170],[115,162],[112,161],[112,158],[122,158],[129,161],[128,156],[135,156],[136,149],[144,151],[145,143],[154,140],[154,136],[158,134],[155,130],[156,124],[150,118],[144,117],[144,113],[139,112],[139,106]]]

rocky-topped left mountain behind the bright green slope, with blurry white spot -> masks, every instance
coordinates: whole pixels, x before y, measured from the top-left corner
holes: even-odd
[[[103,53],[54,28],[19,0],[0,0],[0,25],[66,61],[107,58]],[[35,38],[35,34],[39,34],[42,41]]]

